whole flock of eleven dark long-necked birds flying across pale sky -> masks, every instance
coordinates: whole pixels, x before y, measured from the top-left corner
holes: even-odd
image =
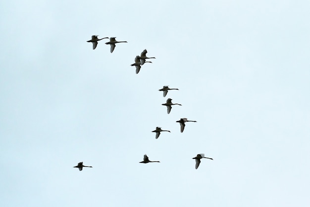
[[[105,43],[106,45],[110,45],[110,52],[111,53],[114,51],[116,43],[127,42],[127,41],[116,41],[115,38],[116,37],[110,37],[110,41]],[[108,37],[104,37],[104,38],[99,39],[98,35],[93,35],[92,39],[87,41],[87,42],[93,43],[93,50],[95,50],[97,45],[98,45],[98,41],[103,40],[103,39],[108,39]],[[136,67],[136,74],[139,73],[142,65],[144,65],[145,63],[152,63],[151,61],[146,61],[147,59],[155,59],[155,57],[151,57],[151,58],[147,57],[146,56],[147,53],[148,53],[148,51],[145,49],[141,53],[140,56],[136,56],[135,63],[130,65],[130,66],[135,66]],[[163,97],[165,97],[167,95],[169,90],[179,90],[179,89],[178,88],[169,88],[169,86],[167,86],[167,85],[164,85],[161,89],[159,89],[159,91],[163,91]],[[167,107],[167,114],[170,113],[170,111],[172,109],[172,105],[182,106],[181,104],[172,103],[171,101],[172,101],[172,99],[168,98],[166,103],[161,104],[161,105]],[[181,118],[180,120],[178,120],[176,122],[180,123],[181,133],[183,133],[184,128],[185,128],[185,122],[197,122],[197,121],[191,121],[191,120],[188,120],[187,118]],[[155,135],[156,139],[159,138],[159,135],[160,135],[161,132],[169,132],[170,133],[170,131],[162,130],[160,127],[156,127],[156,129],[154,131],[152,131],[152,132],[156,133],[156,135]],[[201,162],[200,160],[202,158],[212,159],[210,157],[205,157],[205,154],[203,154],[203,153],[197,154],[196,157],[193,157],[193,159],[196,160],[196,165],[195,165],[196,169],[199,167],[199,164]],[[141,161],[140,163],[149,163],[149,162],[159,162],[159,161],[150,161],[149,157],[145,154],[144,157],[143,157],[143,161]],[[92,166],[85,166],[85,165],[83,165],[83,162],[79,162],[78,165],[74,166],[74,167],[79,168],[79,170],[81,171],[81,170],[83,170],[83,167],[92,167]]]

